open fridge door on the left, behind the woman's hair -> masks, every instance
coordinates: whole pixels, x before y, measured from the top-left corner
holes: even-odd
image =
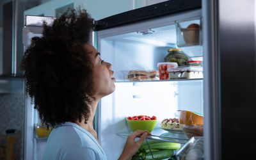
[[[41,17],[26,15],[23,28],[24,51],[31,44],[31,38],[42,36],[43,22],[51,25],[54,17]],[[25,83],[26,84],[26,83]],[[42,159],[42,154],[51,128],[41,124],[38,112],[34,109],[31,98],[25,99],[25,136],[24,136],[24,159]]]

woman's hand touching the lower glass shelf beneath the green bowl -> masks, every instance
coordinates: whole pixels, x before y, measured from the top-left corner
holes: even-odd
[[[132,156],[140,148],[141,143],[146,140],[147,136],[151,135],[148,131],[137,130],[130,134],[126,140],[124,150],[118,160],[131,159]],[[135,141],[135,138],[141,136],[140,140]]]

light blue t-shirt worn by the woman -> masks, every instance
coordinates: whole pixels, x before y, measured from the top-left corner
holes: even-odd
[[[65,122],[52,130],[42,159],[102,160],[107,157],[90,132],[77,124]]]

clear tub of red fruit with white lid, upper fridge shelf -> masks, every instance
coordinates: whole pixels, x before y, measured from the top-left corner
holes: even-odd
[[[178,63],[176,62],[160,62],[157,63],[159,71],[159,79],[170,79],[168,70],[177,68]]]

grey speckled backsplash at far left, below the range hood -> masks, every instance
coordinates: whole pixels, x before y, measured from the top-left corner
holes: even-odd
[[[0,93],[0,134],[6,129],[21,132],[21,157],[24,141],[24,93]]]

